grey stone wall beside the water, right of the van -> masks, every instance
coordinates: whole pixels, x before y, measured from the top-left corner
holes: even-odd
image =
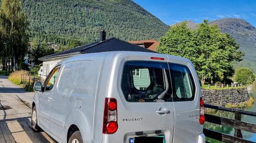
[[[225,90],[204,90],[202,96],[205,104],[225,106],[227,103],[239,104],[249,100],[246,88]]]

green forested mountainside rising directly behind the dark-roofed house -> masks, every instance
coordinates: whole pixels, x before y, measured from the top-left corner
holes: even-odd
[[[158,39],[169,28],[131,0],[23,0],[23,9],[31,39],[53,43],[97,41],[101,30],[125,41]]]

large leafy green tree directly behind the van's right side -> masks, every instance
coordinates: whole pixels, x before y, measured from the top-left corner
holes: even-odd
[[[241,61],[243,52],[228,34],[221,33],[217,25],[204,20],[196,31],[190,30],[186,21],[171,26],[160,38],[157,51],[183,56],[195,66],[201,83],[223,81],[233,73],[232,62]]]

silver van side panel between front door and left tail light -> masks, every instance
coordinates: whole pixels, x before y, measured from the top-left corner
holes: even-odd
[[[52,97],[50,115],[50,130],[59,140],[65,142],[67,128],[71,124],[75,124],[81,134],[86,135],[83,138],[91,139],[100,65],[101,60],[80,60],[62,66]]]

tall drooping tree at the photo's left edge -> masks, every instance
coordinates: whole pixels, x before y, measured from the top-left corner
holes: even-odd
[[[0,33],[3,44],[1,56],[9,70],[24,62],[28,49],[28,20],[22,11],[21,0],[3,0],[0,9]],[[11,65],[11,67],[10,67]]]

